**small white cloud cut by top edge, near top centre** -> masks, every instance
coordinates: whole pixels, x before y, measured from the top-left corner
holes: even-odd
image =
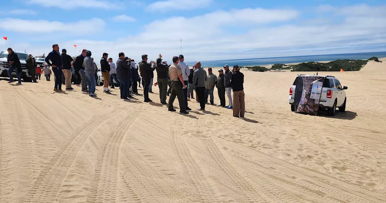
[[[148,9],[167,12],[171,10],[191,10],[209,6],[213,0],[167,0],[150,4]]]

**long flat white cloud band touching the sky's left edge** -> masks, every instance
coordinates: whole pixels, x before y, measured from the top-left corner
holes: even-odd
[[[98,32],[103,29],[104,26],[105,22],[97,18],[70,23],[47,20],[0,19],[0,29],[24,33],[51,33],[61,31],[68,32],[68,34],[92,34],[90,32]],[[83,32],[72,32],[74,29],[82,30]]]

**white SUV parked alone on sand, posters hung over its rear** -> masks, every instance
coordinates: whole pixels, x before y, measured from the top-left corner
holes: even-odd
[[[299,75],[291,88],[289,88],[289,97],[288,102],[291,105],[291,111],[297,109],[295,104],[295,92],[296,92],[296,83],[297,80],[301,80],[301,77],[310,76],[310,75]],[[346,93],[344,90],[347,90],[347,86],[340,85],[338,79],[334,76],[322,76],[325,77],[322,94],[320,95],[319,108],[327,109],[328,115],[335,115],[335,110],[338,107],[339,112],[345,112],[346,110]]]

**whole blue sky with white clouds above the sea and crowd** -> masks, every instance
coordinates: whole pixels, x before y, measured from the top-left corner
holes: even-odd
[[[385,10],[383,0],[7,0],[0,50],[47,55],[59,44],[136,62],[386,51]]]

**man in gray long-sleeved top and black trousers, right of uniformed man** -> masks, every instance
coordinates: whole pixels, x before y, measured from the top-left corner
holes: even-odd
[[[201,63],[196,63],[197,69],[193,72],[193,85],[197,93],[197,99],[200,102],[199,111],[205,111],[205,82],[207,81],[207,71],[201,68]]]

